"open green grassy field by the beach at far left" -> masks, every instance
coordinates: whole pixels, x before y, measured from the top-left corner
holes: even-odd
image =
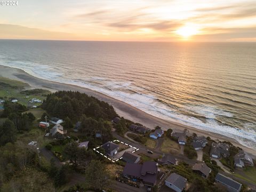
[[[20,81],[15,81],[9,78],[0,77],[0,98],[3,100],[18,99],[19,103],[26,106],[39,106],[41,103],[30,103],[29,100],[36,98],[44,100],[46,94],[51,93],[48,90],[36,89],[26,90],[29,85]]]

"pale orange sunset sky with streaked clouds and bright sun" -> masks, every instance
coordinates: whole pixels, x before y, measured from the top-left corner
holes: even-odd
[[[0,39],[256,42],[256,1],[18,0]]]

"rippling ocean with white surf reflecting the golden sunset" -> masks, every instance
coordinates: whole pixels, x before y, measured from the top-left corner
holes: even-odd
[[[256,147],[256,43],[0,40],[0,65]]]

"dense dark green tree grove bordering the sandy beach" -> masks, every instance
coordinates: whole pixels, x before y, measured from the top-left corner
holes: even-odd
[[[117,116],[107,102],[74,91],[58,91],[47,95],[43,108],[52,116],[63,119],[69,117],[73,122],[79,121],[82,115],[109,120]]]

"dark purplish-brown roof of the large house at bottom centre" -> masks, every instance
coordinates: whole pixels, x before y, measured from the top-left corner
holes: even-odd
[[[146,168],[149,168],[149,171],[151,171],[151,168],[148,167],[149,165],[154,165],[155,168],[153,169],[156,169],[156,173],[157,173],[157,164],[155,162],[153,163],[151,164],[150,162],[149,163],[145,162],[143,163],[143,165],[135,164],[135,163],[126,163],[123,170],[123,174],[132,175],[134,177],[142,179],[144,182],[147,182],[147,183],[156,183],[157,174],[151,174],[151,173],[145,174],[145,175],[141,174],[141,171],[143,169],[145,170]]]

